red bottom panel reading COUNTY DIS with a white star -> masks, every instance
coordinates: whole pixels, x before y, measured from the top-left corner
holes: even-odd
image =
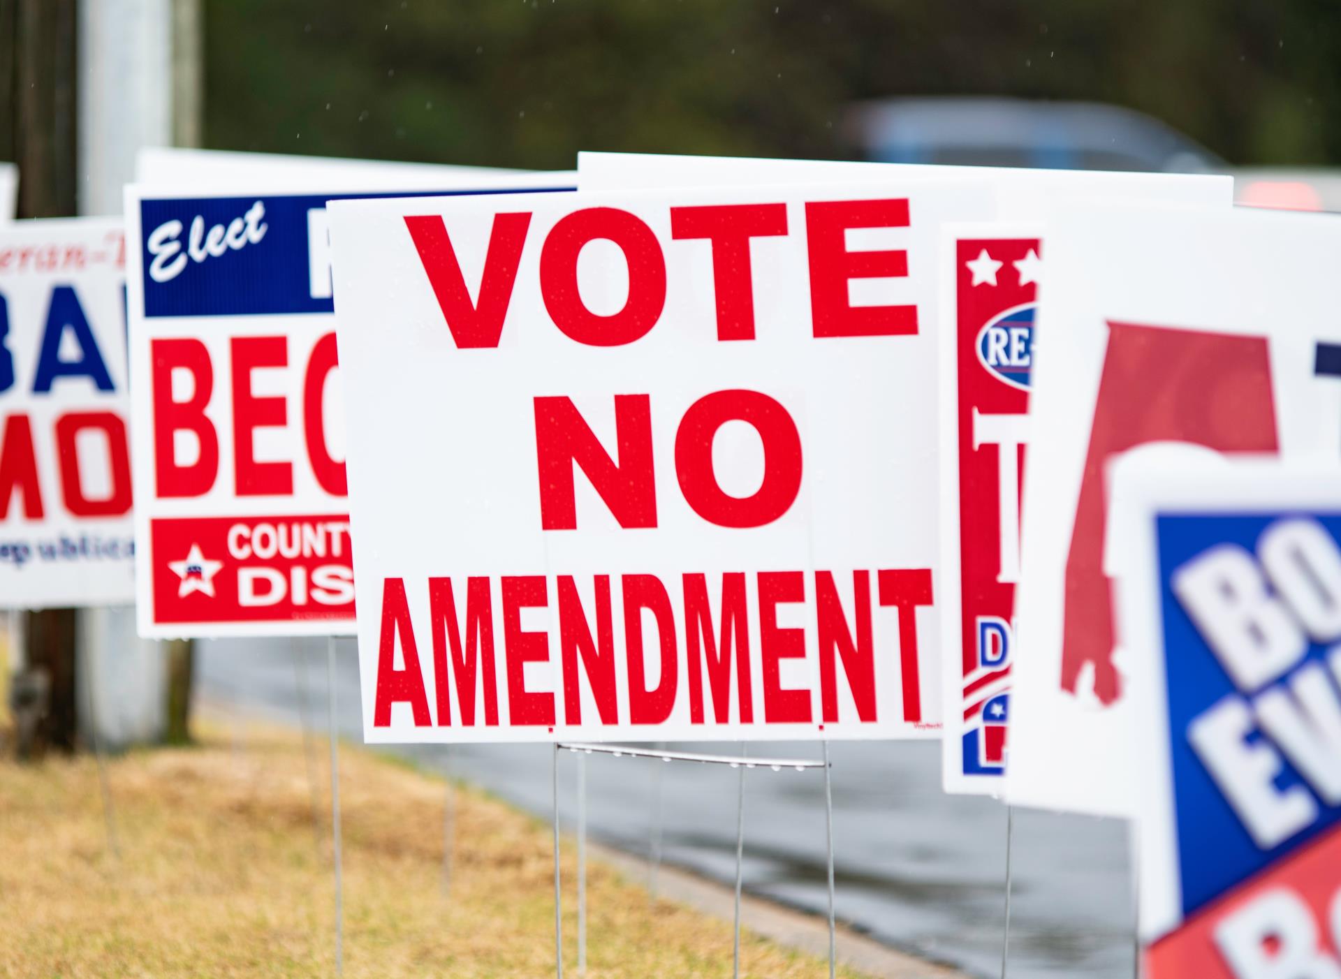
[[[149,527],[160,622],[354,616],[347,516],[156,519]]]

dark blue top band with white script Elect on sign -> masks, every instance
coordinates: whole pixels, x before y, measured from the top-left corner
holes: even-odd
[[[326,203],[367,197],[552,193],[571,186],[139,203],[146,316],[331,312]]]

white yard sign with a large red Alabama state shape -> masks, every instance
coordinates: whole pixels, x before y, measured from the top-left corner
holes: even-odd
[[[1110,577],[1114,465],[1341,447],[1341,220],[1070,208],[1047,225],[1030,392],[1007,798],[1132,815],[1139,759]]]

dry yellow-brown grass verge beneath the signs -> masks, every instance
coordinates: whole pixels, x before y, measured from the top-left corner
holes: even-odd
[[[107,849],[90,758],[0,762],[0,976],[325,976],[334,972],[326,751],[320,844],[302,740],[248,728],[198,747],[114,759],[121,857]],[[554,974],[550,827],[475,791],[457,799],[451,895],[441,892],[443,783],[341,748],[345,974]],[[575,975],[573,846],[565,971]],[[589,866],[589,975],[727,976],[730,923]],[[822,976],[825,963],[762,939],[754,976]],[[845,971],[845,975],[856,975]]]

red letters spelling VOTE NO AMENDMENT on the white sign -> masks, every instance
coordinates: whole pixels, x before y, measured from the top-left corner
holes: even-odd
[[[810,276],[810,321],[815,339],[908,337],[919,331],[915,304],[854,306],[854,279],[908,276],[904,249],[850,251],[846,232],[909,225],[909,201],[846,200],[805,205]],[[472,299],[443,217],[408,216],[405,227],[457,349],[496,349],[516,283],[531,213],[496,213],[477,299]],[[614,347],[652,331],[666,302],[664,247],[705,240],[712,253],[716,337],[723,343],[755,339],[751,240],[784,236],[784,204],[679,207],[669,209],[672,243],[658,240],[638,216],[609,207],[563,216],[539,252],[539,288],[544,308],[563,335],[587,347]],[[628,298],[613,315],[598,315],[578,288],[578,255],[594,240],[613,243],[628,266]],[[658,526],[653,457],[673,459],[676,484],[699,519],[728,528],[763,527],[797,500],[805,460],[791,413],[768,392],[705,390],[673,432],[653,430],[652,394],[611,394],[616,451],[597,439],[571,398],[532,398],[539,530],[581,530],[574,495],[575,469],[594,488],[624,530]],[[725,492],[713,469],[712,444],[727,422],[744,422],[763,447],[763,477],[748,496]],[[653,452],[657,439],[673,440],[669,453]],[[850,613],[845,610],[842,594]],[[849,590],[850,589],[850,590]],[[496,726],[507,699],[511,726],[593,724],[578,693],[585,675],[601,726],[658,724],[688,692],[695,724],[818,724],[838,720],[838,679],[843,672],[857,717],[876,722],[873,618],[897,616],[902,719],[923,720],[917,668],[916,609],[932,602],[927,567],[845,570],[760,570],[739,573],[491,575],[381,582],[381,620],[373,727],[392,724],[392,709],[408,704],[416,727]],[[581,595],[594,595],[583,599]],[[429,609],[416,633],[410,606]],[[618,620],[613,610],[618,606]],[[783,628],[779,609],[793,609],[811,628]],[[523,610],[547,609],[557,636],[523,628]],[[717,614],[713,616],[713,609]],[[530,617],[528,617],[530,618]],[[622,621],[621,630],[616,622]],[[646,636],[645,636],[646,633]],[[818,649],[807,656],[813,637]],[[644,644],[660,648],[660,676],[646,676]],[[559,657],[562,679],[552,692],[527,689],[524,667]],[[616,657],[624,668],[616,669]],[[424,661],[432,660],[432,683]],[[818,664],[818,713],[813,691],[782,685],[780,664],[810,658]],[[758,673],[751,665],[758,664]],[[731,704],[732,673],[738,703]],[[617,696],[617,676],[628,691]],[[707,680],[707,683],[704,683]],[[459,715],[453,716],[455,684]],[[760,696],[755,696],[755,689]],[[620,716],[620,704],[628,716]],[[562,709],[561,709],[562,705]],[[402,708],[404,709],[404,708]]]

